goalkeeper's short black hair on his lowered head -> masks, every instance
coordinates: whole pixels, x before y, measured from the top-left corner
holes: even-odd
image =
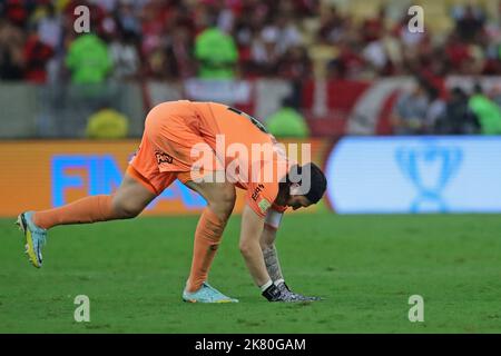
[[[279,190],[288,189],[293,182],[298,182],[303,185],[303,179],[297,181],[293,180],[291,177],[291,171],[296,171],[298,176],[302,176],[303,172],[306,174],[310,171],[310,189],[304,194],[304,196],[312,202],[317,204],[320,199],[322,199],[325,190],[327,189],[327,179],[325,178],[324,172],[313,162],[308,162],[303,166],[293,166],[287,174],[285,181],[279,184]],[[304,177],[302,177],[304,178]],[[288,190],[287,190],[288,191]]]

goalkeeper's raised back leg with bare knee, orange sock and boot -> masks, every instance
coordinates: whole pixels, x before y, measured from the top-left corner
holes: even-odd
[[[86,197],[59,208],[20,214],[17,224],[24,235],[30,263],[37,268],[42,266],[41,250],[46,244],[47,230],[51,227],[132,218],[155,197],[154,192],[126,174],[114,195]]]

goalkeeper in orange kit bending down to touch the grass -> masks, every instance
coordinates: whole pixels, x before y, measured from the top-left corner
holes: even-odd
[[[266,148],[264,158],[245,154],[253,152],[256,146]],[[256,119],[215,102],[180,100],[151,109],[139,149],[112,195],[22,212],[18,224],[24,231],[30,261],[41,267],[48,229],[136,217],[175,179],[207,201],[195,231],[191,269],[183,291],[185,301],[238,301],[207,283],[235,205],[236,188],[247,190],[239,249],[262,295],[271,301],[318,299],[289,290],[279,267],[275,238],[288,207],[296,210],[322,198],[326,189],[324,174],[314,164],[298,166],[289,161]]]

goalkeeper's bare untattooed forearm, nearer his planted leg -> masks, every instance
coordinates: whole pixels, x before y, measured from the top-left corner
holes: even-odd
[[[266,284],[271,277],[266,270],[259,238],[263,233],[264,221],[248,206],[245,206],[242,215],[240,251],[245,264],[257,286]]]

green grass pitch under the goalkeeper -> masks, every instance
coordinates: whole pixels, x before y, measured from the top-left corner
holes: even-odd
[[[500,333],[498,215],[286,216],[284,274],[312,304],[266,301],[238,251],[233,217],[209,283],[240,299],[186,304],[197,217],[57,227],[36,269],[13,219],[0,220],[0,333]],[[424,298],[424,323],[407,318]],[[76,323],[77,295],[90,323]]]

